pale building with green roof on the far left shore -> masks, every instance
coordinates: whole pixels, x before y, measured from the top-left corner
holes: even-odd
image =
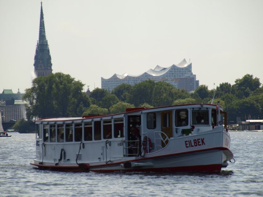
[[[23,93],[13,93],[10,89],[4,89],[0,94],[0,110],[2,122],[26,118],[25,103],[22,101]]]

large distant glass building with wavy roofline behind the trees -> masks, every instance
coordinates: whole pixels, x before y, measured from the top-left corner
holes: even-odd
[[[185,89],[187,92],[195,90],[199,86],[199,81],[196,80],[196,75],[192,73],[192,63],[188,64],[185,59],[177,65],[172,65],[168,68],[156,66],[153,70],[150,69],[143,74],[114,74],[111,78],[105,79],[101,77],[101,88],[109,92],[113,88],[127,83],[134,85],[136,83],[151,79],[155,82],[165,81],[171,83],[179,89]]]

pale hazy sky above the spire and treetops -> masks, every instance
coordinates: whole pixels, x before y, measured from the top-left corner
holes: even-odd
[[[0,0],[0,93],[31,87],[37,0]],[[90,89],[114,73],[192,62],[208,89],[253,74],[263,83],[263,1],[43,0],[53,73]]]

